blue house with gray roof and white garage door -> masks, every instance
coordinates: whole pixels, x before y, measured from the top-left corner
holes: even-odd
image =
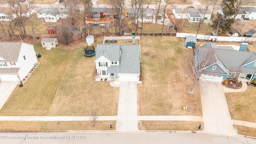
[[[219,49],[212,42],[208,42],[196,50],[194,58],[197,70],[207,57],[208,62],[204,63],[204,68],[201,67],[201,78],[215,82],[234,78],[247,82],[256,79],[255,52]]]

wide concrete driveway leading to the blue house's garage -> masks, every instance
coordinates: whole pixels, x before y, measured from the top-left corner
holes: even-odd
[[[222,84],[202,80],[200,93],[204,131],[235,134]]]

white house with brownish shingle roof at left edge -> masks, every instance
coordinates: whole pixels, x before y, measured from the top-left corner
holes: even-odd
[[[0,81],[19,82],[36,63],[33,45],[24,42],[0,42]]]

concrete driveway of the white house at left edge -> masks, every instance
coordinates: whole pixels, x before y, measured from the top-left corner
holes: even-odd
[[[0,109],[4,106],[4,103],[9,98],[14,88],[16,88],[19,82],[1,82],[0,83]]]

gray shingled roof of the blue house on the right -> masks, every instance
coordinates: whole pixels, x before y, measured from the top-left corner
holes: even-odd
[[[210,42],[208,42],[210,43]],[[208,44],[207,43],[207,44]],[[212,43],[213,44],[213,43]],[[215,45],[215,44],[214,44]],[[206,47],[201,46],[199,49],[199,53],[206,53],[207,51],[211,50],[212,48],[209,47],[208,44]],[[216,46],[216,45],[215,45]],[[216,57],[209,62],[208,65],[211,65],[215,62],[223,66],[222,68],[228,69],[231,72],[242,72],[247,74],[255,74],[256,68],[244,67],[244,64],[248,64],[256,60],[256,53],[255,52],[246,52],[246,51],[238,51],[238,50],[224,50],[224,49],[216,49],[213,50]],[[230,57],[232,56],[232,58]],[[199,58],[200,59],[200,58]],[[200,59],[202,61],[204,58]],[[218,61],[220,60],[220,61]],[[242,67],[240,67],[242,66]]]

